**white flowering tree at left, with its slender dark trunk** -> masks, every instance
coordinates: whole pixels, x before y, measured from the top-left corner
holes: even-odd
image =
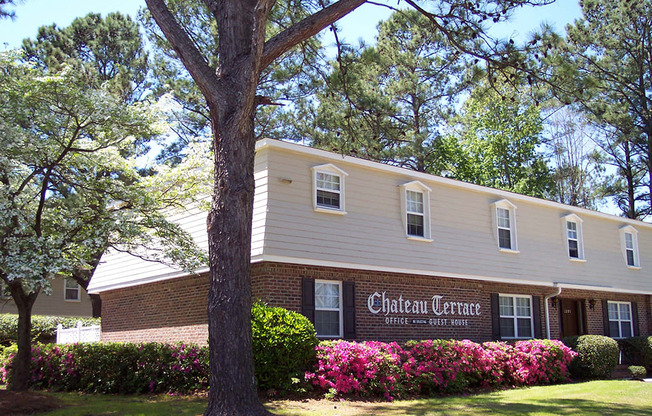
[[[157,133],[151,111],[82,78],[0,54],[0,279],[19,312],[13,390],[27,388],[31,310],[55,275],[94,270],[117,241],[189,270],[204,261],[161,212],[184,194],[172,172],[143,178],[133,161],[135,143]]]

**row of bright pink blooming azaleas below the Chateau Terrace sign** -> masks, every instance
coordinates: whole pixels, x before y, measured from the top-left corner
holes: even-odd
[[[383,396],[460,393],[474,388],[568,380],[576,354],[560,341],[514,344],[425,340],[396,343],[335,341],[317,347],[306,379],[329,395]]]

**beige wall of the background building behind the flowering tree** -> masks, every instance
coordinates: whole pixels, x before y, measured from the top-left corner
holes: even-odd
[[[51,281],[50,294],[40,293],[34,302],[32,315],[47,316],[80,316],[93,315],[93,306],[90,297],[84,289],[80,288],[79,301],[66,301],[64,298],[64,278],[55,277]],[[16,304],[11,298],[0,299],[0,314],[17,314]]]

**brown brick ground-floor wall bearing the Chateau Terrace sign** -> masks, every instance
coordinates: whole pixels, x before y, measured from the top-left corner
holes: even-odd
[[[456,338],[487,341],[492,338],[491,293],[533,295],[541,299],[541,333],[545,337],[543,298],[555,292],[551,287],[526,286],[478,280],[427,277],[410,274],[300,266],[283,263],[252,265],[252,296],[273,306],[301,311],[301,280],[304,277],[355,282],[358,340],[405,341],[408,339]],[[410,313],[372,314],[369,295],[385,292],[387,297],[427,301],[442,296],[441,302],[480,305],[480,315],[441,316]],[[207,340],[206,276],[185,277],[102,293],[102,339],[104,341],[179,341],[205,344]],[[608,292],[564,289],[559,298],[583,300],[587,332],[602,334],[602,300],[637,302],[641,335],[652,333],[651,297]],[[589,300],[595,300],[593,308]],[[559,302],[550,306],[551,336],[560,335]],[[399,318],[398,320],[388,318]],[[404,318],[402,321],[400,318]],[[412,324],[412,318],[426,324]],[[407,319],[407,323],[405,322]],[[446,321],[443,321],[446,319]],[[461,319],[465,322],[451,322]],[[432,323],[432,325],[431,325]]]

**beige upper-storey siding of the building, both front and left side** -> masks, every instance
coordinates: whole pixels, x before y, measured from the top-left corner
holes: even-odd
[[[313,209],[311,168],[333,164],[347,173],[346,214]],[[522,195],[416,173],[303,146],[264,140],[257,146],[252,259],[403,271],[518,283],[591,286],[652,293],[652,226]],[[432,242],[406,236],[401,185],[418,180],[430,192]],[[498,250],[492,204],[516,206],[518,253]],[[582,220],[584,258],[568,258],[562,217]],[[206,213],[175,218],[206,247]],[[640,270],[628,268],[619,229],[638,231]],[[107,254],[91,293],[186,273],[133,256]]]

